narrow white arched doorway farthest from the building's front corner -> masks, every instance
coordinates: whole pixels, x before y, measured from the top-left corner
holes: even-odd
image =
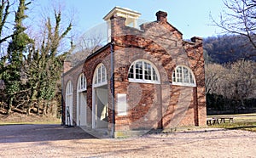
[[[67,82],[66,86],[66,125],[73,125],[73,84]]]

